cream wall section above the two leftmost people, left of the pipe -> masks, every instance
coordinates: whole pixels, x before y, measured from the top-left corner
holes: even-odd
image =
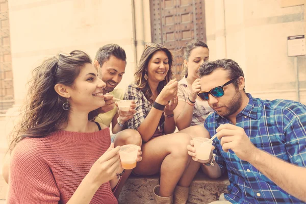
[[[31,70],[59,51],[81,49],[94,59],[100,46],[117,43],[127,55],[124,79],[134,73],[131,1],[10,1],[9,12],[15,104],[22,103]]]

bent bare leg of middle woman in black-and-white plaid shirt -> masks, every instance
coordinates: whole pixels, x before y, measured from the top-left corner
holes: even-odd
[[[134,172],[140,175],[152,175],[161,172],[159,195],[167,197],[184,173],[191,158],[187,145],[191,137],[185,133],[175,133],[149,140],[142,145],[142,161]]]

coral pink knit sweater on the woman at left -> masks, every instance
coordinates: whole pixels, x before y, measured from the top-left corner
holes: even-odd
[[[23,139],[12,153],[7,203],[66,203],[110,143],[108,128]],[[118,203],[109,182],[90,203]]]

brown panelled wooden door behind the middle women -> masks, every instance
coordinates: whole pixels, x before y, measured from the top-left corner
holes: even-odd
[[[174,78],[181,79],[186,44],[206,42],[204,0],[150,0],[152,42],[173,54]]]

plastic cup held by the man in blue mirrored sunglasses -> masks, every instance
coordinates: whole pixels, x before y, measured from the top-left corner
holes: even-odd
[[[192,140],[195,147],[195,158],[197,158],[199,162],[209,160],[212,151],[213,141],[205,137],[196,137]]]

